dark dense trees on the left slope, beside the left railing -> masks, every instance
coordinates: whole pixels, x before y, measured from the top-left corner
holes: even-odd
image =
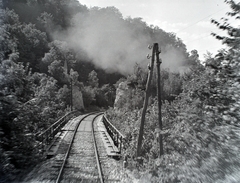
[[[56,27],[69,26],[74,12],[86,10],[77,1],[63,4],[64,1],[1,4],[0,182],[15,179],[19,171],[40,159],[35,135],[69,111],[70,81],[73,91],[84,91],[81,81],[86,81],[94,69],[86,62],[76,65],[76,54],[68,44],[51,37],[50,32]],[[65,18],[59,18],[59,13]],[[84,64],[88,69],[81,70]],[[81,71],[82,77],[74,70]],[[103,71],[99,72],[103,75]],[[105,76],[101,82],[108,82],[108,78]],[[104,95],[99,100],[112,100],[106,86],[99,90]],[[102,107],[101,102],[98,105]]]

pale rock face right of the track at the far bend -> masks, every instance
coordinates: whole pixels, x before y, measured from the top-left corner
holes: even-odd
[[[129,93],[129,87],[126,82],[121,82],[118,85],[116,90],[116,98],[114,101],[114,109],[121,108],[123,104],[126,102],[126,96]]]

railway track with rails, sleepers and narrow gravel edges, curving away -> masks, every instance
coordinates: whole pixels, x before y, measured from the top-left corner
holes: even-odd
[[[120,182],[113,175],[113,159],[109,158],[101,139],[97,121],[103,113],[74,118],[63,128],[64,135],[52,159],[46,182]],[[96,130],[94,130],[96,129]]]

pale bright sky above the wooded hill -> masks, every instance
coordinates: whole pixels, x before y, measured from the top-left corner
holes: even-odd
[[[200,59],[206,51],[217,53],[224,48],[211,32],[224,32],[217,29],[210,20],[226,17],[230,10],[224,0],[79,0],[87,7],[114,6],[123,17],[141,17],[148,25],[155,25],[167,32],[176,33],[187,45],[188,51],[197,49]],[[230,20],[238,26],[238,22]],[[161,43],[159,43],[161,45]]]

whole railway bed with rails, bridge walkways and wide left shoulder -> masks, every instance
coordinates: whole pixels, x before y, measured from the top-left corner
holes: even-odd
[[[48,159],[30,170],[22,182],[128,182],[124,181],[122,160],[112,158],[119,158],[120,154],[116,152],[114,156],[113,142],[108,141],[101,114],[69,120],[50,144]]]

